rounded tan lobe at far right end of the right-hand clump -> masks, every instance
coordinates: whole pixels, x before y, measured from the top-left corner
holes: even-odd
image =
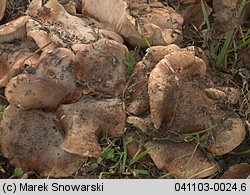
[[[246,129],[243,121],[233,113],[226,116],[225,119],[217,121],[213,129],[213,139],[207,148],[214,155],[226,154],[242,143],[246,136]]]

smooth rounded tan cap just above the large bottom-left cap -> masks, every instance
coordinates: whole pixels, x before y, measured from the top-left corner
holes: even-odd
[[[53,109],[66,97],[66,91],[55,80],[23,73],[9,81],[5,95],[11,105],[22,110]]]

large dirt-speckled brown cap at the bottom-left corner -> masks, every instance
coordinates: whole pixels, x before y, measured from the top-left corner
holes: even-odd
[[[10,163],[42,177],[67,177],[82,165],[76,155],[65,152],[58,120],[43,111],[20,111],[9,106],[3,114],[0,144]]]

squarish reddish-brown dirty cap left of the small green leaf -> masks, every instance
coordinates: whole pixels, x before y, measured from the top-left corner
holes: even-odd
[[[84,93],[121,95],[126,84],[127,52],[124,45],[108,39],[82,45],[76,54],[75,75]]]

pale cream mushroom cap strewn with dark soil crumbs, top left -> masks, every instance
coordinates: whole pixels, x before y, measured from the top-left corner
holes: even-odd
[[[97,40],[97,34],[87,20],[70,15],[57,0],[49,0],[40,9],[39,7],[40,2],[28,8],[28,14],[35,17],[36,21],[29,21],[27,32],[40,48],[49,42],[52,42],[54,47],[71,47],[74,44]]]

